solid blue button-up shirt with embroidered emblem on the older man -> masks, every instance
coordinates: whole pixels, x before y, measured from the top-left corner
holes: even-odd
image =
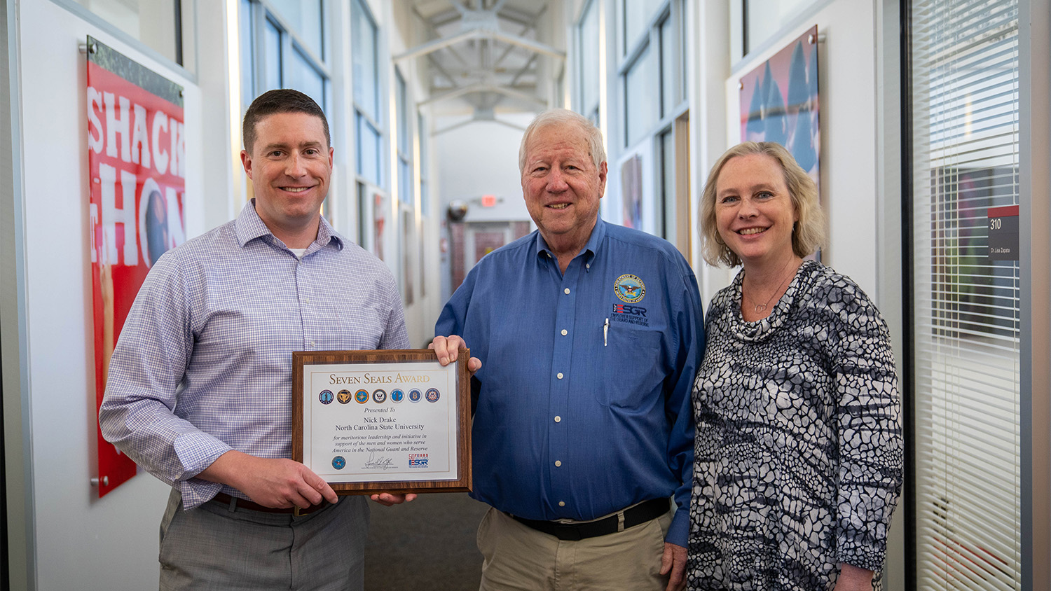
[[[704,345],[693,271],[667,241],[599,219],[563,275],[538,232],[471,270],[435,333],[482,360],[479,501],[532,520],[591,520],[675,494],[686,545]]]

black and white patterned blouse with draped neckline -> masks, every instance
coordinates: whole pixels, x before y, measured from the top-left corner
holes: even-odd
[[[882,569],[901,491],[890,336],[819,262],[756,322],[741,317],[743,278],[712,301],[694,384],[688,588],[830,590],[840,563]]]

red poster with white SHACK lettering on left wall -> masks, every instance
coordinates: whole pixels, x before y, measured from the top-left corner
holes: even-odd
[[[96,413],[109,356],[149,268],[186,240],[183,89],[87,38],[87,156]],[[98,423],[98,420],[96,420]],[[99,497],[136,465],[98,436]]]

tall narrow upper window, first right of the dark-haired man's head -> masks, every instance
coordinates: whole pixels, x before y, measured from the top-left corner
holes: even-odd
[[[357,173],[369,182],[383,186],[378,30],[362,0],[354,0],[351,7],[351,26]]]

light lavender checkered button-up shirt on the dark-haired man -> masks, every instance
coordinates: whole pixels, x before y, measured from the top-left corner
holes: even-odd
[[[387,267],[323,218],[303,258],[249,203],[150,269],[109,362],[103,436],[190,509],[220,491],[194,478],[236,449],[292,452],[292,352],[406,349]]]

